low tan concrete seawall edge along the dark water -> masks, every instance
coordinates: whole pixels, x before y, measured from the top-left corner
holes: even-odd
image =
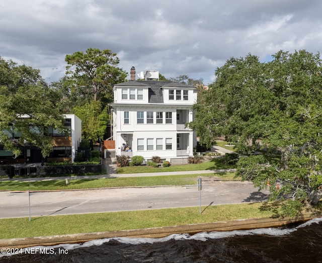
[[[283,218],[263,217],[263,218],[239,219],[239,220],[231,220],[231,221],[219,221],[219,222],[212,222],[212,223],[165,226],[165,227],[154,227],[154,228],[144,228],[144,229],[12,238],[12,239],[0,240],[0,247],[26,248],[26,247],[39,246],[39,245],[50,246],[50,245],[67,244],[67,243],[84,243],[95,239],[113,238],[113,237],[159,238],[159,237],[165,237],[171,234],[181,234],[181,233],[195,234],[199,232],[231,231],[231,230],[279,227],[279,226],[285,226],[291,223],[307,221],[321,216],[322,216],[321,213],[315,212],[315,213],[304,213],[303,215],[296,216],[296,217],[283,217]]]

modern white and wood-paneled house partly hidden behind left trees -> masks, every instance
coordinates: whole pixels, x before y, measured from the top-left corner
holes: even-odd
[[[75,153],[82,140],[82,120],[74,114],[65,114],[65,126],[69,129],[69,134],[60,133],[52,127],[48,127],[49,134],[53,137],[53,149],[47,162],[51,161],[70,161],[73,162]],[[21,150],[21,155],[13,158],[10,151],[4,150],[0,145],[0,165],[1,164],[24,164],[24,163],[40,163],[42,160],[41,150],[35,146],[18,144],[20,133],[14,130],[7,131],[12,140],[17,142],[17,147]]]

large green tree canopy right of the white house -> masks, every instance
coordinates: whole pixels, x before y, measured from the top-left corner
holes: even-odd
[[[285,212],[295,214],[322,197],[321,59],[305,50],[272,57],[263,63],[249,54],[217,68],[189,126],[207,146],[222,135],[234,142],[247,155],[236,175],[269,185],[271,199],[286,198]]]

